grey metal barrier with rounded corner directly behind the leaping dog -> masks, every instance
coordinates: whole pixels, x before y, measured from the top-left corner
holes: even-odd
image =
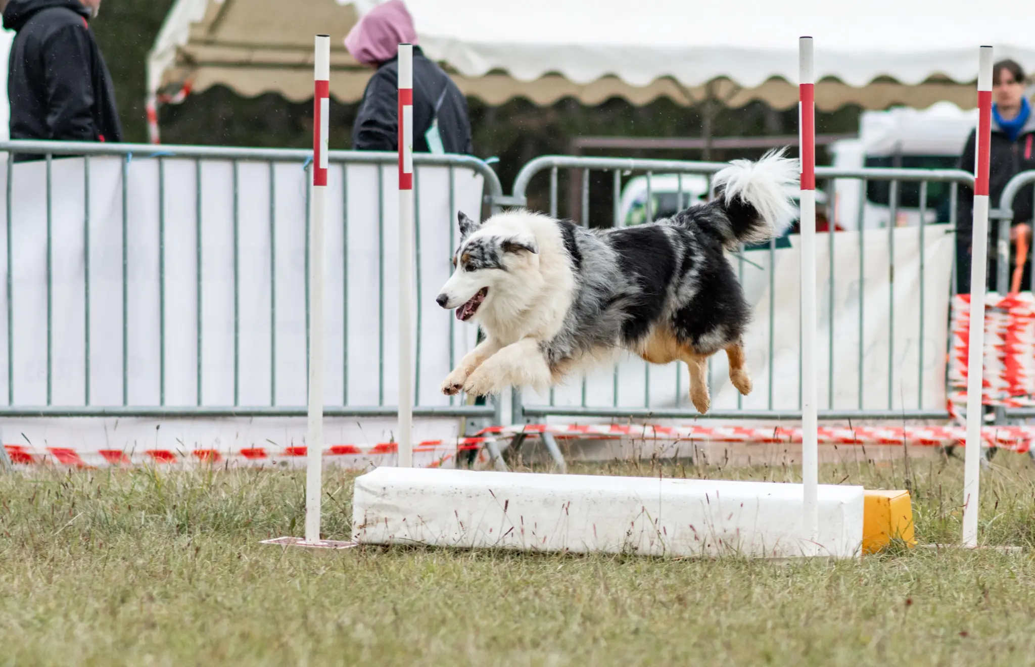
[[[669,215],[671,212],[667,211],[654,211],[652,210],[654,206],[654,198],[652,185],[655,181],[660,180],[661,175],[678,175],[678,193],[675,198],[677,208],[682,208],[686,205],[687,199],[684,198],[684,178],[687,176],[698,175],[708,178],[707,192],[711,192],[711,176],[718,170],[724,168],[726,163],[714,163],[714,162],[686,162],[678,160],[648,160],[648,159],[623,159],[623,158],[595,158],[595,157],[570,157],[570,156],[545,156],[539,157],[528,164],[526,164],[520,174],[518,175],[514,186],[513,186],[513,200],[521,202],[524,201],[529,192],[530,185],[537,176],[546,174],[549,176],[549,208],[553,215],[558,214],[558,182],[559,174],[562,170],[569,171],[581,171],[582,176],[582,192],[581,192],[581,204],[582,211],[581,215],[575,215],[576,212],[569,210],[569,217],[578,217],[583,224],[586,224],[587,220],[590,218],[590,172],[592,171],[602,171],[611,175],[611,198],[613,200],[612,206],[612,216],[611,219],[607,221],[603,225],[596,226],[617,226],[624,224],[627,221],[629,207],[627,206],[628,198],[624,198],[622,194],[623,190],[623,177],[628,176],[632,173],[641,173],[646,178],[646,205],[642,211],[642,218],[645,221],[650,221],[654,217],[660,217],[661,215]],[[569,175],[569,178],[574,178]],[[867,206],[867,200],[871,199],[869,196],[870,188],[875,184],[878,185],[876,188],[878,191],[877,198],[880,199],[882,187],[886,187],[886,201],[888,203],[888,215],[889,221],[898,221],[900,209],[905,207],[901,206],[904,201],[909,201],[915,199],[916,217],[921,222],[919,224],[919,312],[918,312],[918,327],[919,336],[918,341],[923,341],[925,327],[929,325],[925,321],[924,314],[924,295],[927,289],[924,285],[925,272],[928,270],[927,259],[925,256],[925,243],[924,243],[924,233],[927,224],[924,221],[931,215],[935,214],[934,211],[928,209],[928,199],[931,187],[945,188],[948,186],[948,193],[942,192],[942,203],[943,211],[941,216],[945,219],[939,220],[942,222],[949,222],[953,224],[947,225],[951,228],[951,232],[954,232],[954,222],[956,220],[956,202],[958,195],[958,186],[960,184],[967,186],[973,186],[973,175],[968,174],[963,171],[957,170],[912,170],[912,169],[862,169],[862,170],[837,170],[832,168],[818,168],[817,169],[817,179],[822,186],[825,186],[827,200],[830,203],[836,203],[836,190],[837,188],[845,187],[846,182],[857,181],[861,182],[861,196],[859,199],[859,214],[858,220],[860,225],[865,219],[863,214],[863,209]],[[626,184],[628,187],[628,184]],[[669,186],[671,190],[671,184]],[[687,192],[689,187],[686,188]],[[671,192],[670,192],[671,194]],[[604,194],[607,196],[607,194]],[[671,198],[670,198],[671,199]],[[625,216],[623,217],[623,212],[620,211],[620,206],[625,208]],[[946,210],[947,209],[947,210]],[[935,214],[938,215],[938,214]],[[834,218],[834,216],[830,216]],[[907,312],[895,312],[895,238],[896,230],[899,228],[897,224],[887,224],[887,246],[886,252],[888,253],[887,262],[887,273],[883,281],[877,285],[882,290],[887,291],[887,324],[890,329],[888,332],[889,344],[888,354],[886,361],[886,372],[888,375],[888,391],[886,403],[880,407],[876,405],[866,405],[863,401],[864,387],[867,383],[871,383],[876,377],[867,377],[863,372],[863,358],[866,355],[866,350],[864,350],[863,329],[865,326],[865,314],[867,312],[866,308],[866,287],[871,287],[874,283],[873,278],[867,278],[863,275],[864,255],[866,252],[867,244],[863,242],[864,237],[867,234],[859,233],[856,234],[858,237],[857,247],[855,249],[859,255],[859,273],[858,273],[858,332],[859,340],[858,347],[855,351],[854,365],[856,366],[856,375],[858,383],[858,401],[853,407],[846,407],[844,405],[835,405],[834,400],[834,375],[836,373],[844,373],[847,369],[846,365],[852,364],[853,361],[848,361],[844,359],[844,355],[838,355],[835,359],[835,341],[834,341],[834,259],[836,256],[834,245],[836,237],[848,236],[849,233],[836,232],[828,234],[828,262],[829,266],[829,278],[826,285],[826,291],[828,295],[828,316],[829,316],[829,342],[827,350],[827,407],[826,410],[820,411],[820,417],[824,419],[852,419],[852,418],[875,418],[875,419],[941,419],[948,416],[947,410],[944,406],[933,406],[924,402],[923,387],[924,387],[924,355],[922,352],[917,352],[918,364],[916,366],[916,376],[917,376],[917,392],[915,396],[911,399],[915,401],[914,405],[900,404],[895,406],[895,385],[890,378],[894,377],[896,373],[903,375],[906,370],[899,368],[900,362],[896,358],[895,351],[895,334],[894,327],[896,323],[904,323],[907,316],[915,316],[916,313]],[[943,228],[944,229],[944,228]],[[951,233],[949,230],[945,230],[945,233]],[[874,232],[877,234],[883,234],[883,232]],[[929,234],[929,233],[928,233]],[[951,241],[951,239],[950,239]],[[777,248],[777,240],[773,240],[768,245],[768,252],[763,248],[762,251],[766,252],[768,255],[766,264],[768,265],[768,270],[763,269],[757,263],[751,262],[745,256],[747,252],[741,252],[736,260],[738,272],[740,277],[744,277],[745,264],[755,265],[759,269],[767,272],[767,287],[768,287],[768,351],[767,360],[771,364],[773,362],[773,338],[776,335],[776,327],[774,324],[774,275],[775,275],[775,261],[774,255]],[[953,245],[954,244],[949,244]],[[755,250],[752,253],[757,253]],[[943,257],[943,261],[945,257]],[[955,252],[951,251],[951,260],[949,263],[954,267]],[[868,284],[867,284],[868,283]],[[821,287],[822,287],[821,283]],[[945,296],[948,296],[950,290],[954,290],[955,281],[950,277],[949,285],[946,285]],[[822,294],[822,293],[821,293]],[[870,297],[869,300],[873,300]],[[761,323],[759,323],[761,324]],[[756,325],[759,326],[759,325]],[[766,325],[762,325],[766,326]],[[948,345],[948,337],[946,334],[945,346],[937,350],[936,363],[941,363],[944,366],[944,354]],[[800,345],[798,347],[798,387],[800,388]],[[899,355],[900,357],[900,355]],[[714,359],[714,358],[713,358]],[[711,360],[709,360],[709,386],[713,386],[712,367]],[[835,370],[836,369],[836,370]],[[770,368],[772,370],[772,368]],[[644,382],[644,395],[642,401],[638,401],[640,404],[630,403],[627,400],[620,399],[621,386],[624,383],[624,377],[620,375],[619,366],[616,366],[613,370],[613,391],[612,391],[612,401],[610,405],[597,404],[590,405],[587,401],[587,381],[584,377],[581,387],[581,400],[576,401],[575,404],[558,404],[555,400],[555,393],[551,391],[550,399],[548,403],[544,404],[525,404],[524,397],[519,391],[514,391],[512,394],[512,410],[515,423],[522,422],[532,422],[546,416],[568,416],[568,417],[603,417],[603,418],[691,418],[697,417],[698,413],[692,407],[692,405],[683,406],[679,404],[680,398],[682,398],[683,387],[681,386],[680,380],[682,375],[682,369],[679,369],[676,374],[675,383],[675,395],[677,396],[676,406],[660,407],[652,404],[650,389],[650,372],[651,367],[646,362],[643,362],[643,370],[638,371],[645,375]],[[797,410],[777,410],[774,408],[774,397],[778,394],[778,388],[774,387],[774,372],[768,372],[768,382],[765,388],[766,391],[766,404],[763,408],[745,408],[743,405],[742,397],[737,396],[737,407],[735,410],[715,410],[713,401],[713,410],[709,412],[708,417],[712,418],[722,418],[722,419],[799,419],[800,418],[800,390],[798,395],[798,407]],[[782,378],[781,378],[782,380]],[[687,387],[688,389],[688,387]],[[713,395],[714,396],[714,395]],[[905,399],[905,397],[901,397]],[[928,397],[929,398],[929,397]],[[822,401],[822,398],[821,398]],[[684,403],[688,403],[687,400],[683,399]],[[882,401],[884,402],[884,401]],[[822,402],[821,402],[822,405]]]

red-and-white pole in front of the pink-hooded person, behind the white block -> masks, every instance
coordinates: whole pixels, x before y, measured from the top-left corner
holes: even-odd
[[[413,44],[398,46],[398,465],[413,467]]]

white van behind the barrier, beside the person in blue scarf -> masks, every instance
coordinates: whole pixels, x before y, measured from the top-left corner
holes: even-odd
[[[841,169],[901,166],[955,169],[964,144],[977,125],[977,110],[963,111],[951,102],[928,109],[896,108],[863,112],[859,139],[841,140],[830,146],[833,165]],[[861,181],[834,182],[834,221],[838,228],[857,230],[886,228],[891,218],[888,181],[871,181],[863,198]],[[924,222],[949,221],[948,183],[927,184]],[[920,222],[920,184],[898,184],[896,226]]]

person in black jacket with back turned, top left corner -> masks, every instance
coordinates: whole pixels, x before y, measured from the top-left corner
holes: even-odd
[[[111,73],[88,23],[100,0],[0,4],[4,28],[17,32],[7,73],[10,138],[122,141]]]

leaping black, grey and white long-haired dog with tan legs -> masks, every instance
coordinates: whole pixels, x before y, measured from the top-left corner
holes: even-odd
[[[716,175],[713,201],[625,229],[586,230],[529,211],[478,225],[461,214],[456,272],[439,303],[461,306],[457,316],[476,317],[495,342],[465,358],[443,391],[556,383],[624,348],[652,363],[687,363],[702,413],[706,360],[717,352],[727,352],[734,385],[748,393],[742,337],[750,308],[724,250],[787,229],[794,211],[785,188],[796,176],[781,153],[739,160]]]

